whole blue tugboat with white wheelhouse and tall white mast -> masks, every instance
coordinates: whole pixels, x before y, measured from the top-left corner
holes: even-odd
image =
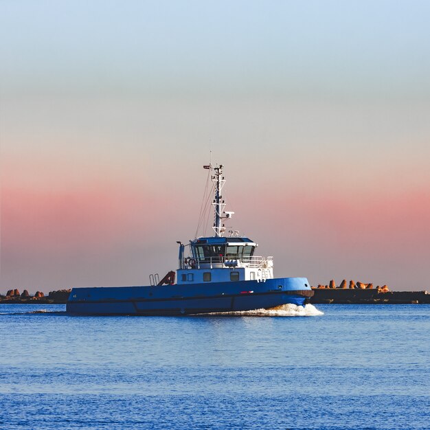
[[[306,278],[273,278],[273,257],[255,256],[253,240],[230,231],[225,237],[225,211],[221,190],[223,165],[203,166],[214,183],[214,236],[179,244],[177,283],[170,271],[159,281],[150,276],[148,286],[73,288],[67,313],[74,315],[194,315],[304,306],[313,291]],[[189,256],[185,257],[185,247]]]

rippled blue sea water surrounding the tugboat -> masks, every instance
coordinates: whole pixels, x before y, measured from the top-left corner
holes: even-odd
[[[430,429],[430,306],[317,308],[70,317],[0,305],[0,428]]]

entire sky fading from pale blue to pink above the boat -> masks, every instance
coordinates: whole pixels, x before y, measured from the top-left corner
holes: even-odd
[[[276,277],[430,291],[429,19],[418,0],[0,0],[0,293],[177,269],[211,157]]]

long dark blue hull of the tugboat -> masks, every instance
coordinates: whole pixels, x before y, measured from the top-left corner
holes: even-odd
[[[283,304],[303,306],[312,295],[306,278],[73,288],[67,312],[74,315],[192,315],[274,308]]]

